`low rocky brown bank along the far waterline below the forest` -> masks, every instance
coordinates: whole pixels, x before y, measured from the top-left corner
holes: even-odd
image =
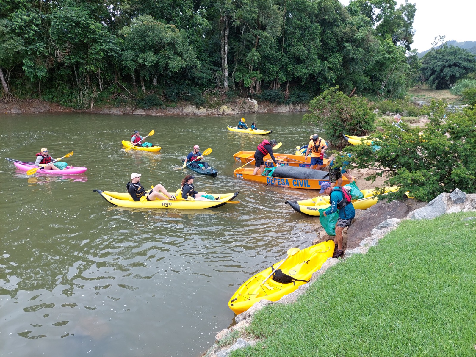
[[[239,98],[232,103],[223,103],[213,108],[197,107],[189,103],[177,103],[175,107],[140,109],[136,107],[96,107],[88,110],[72,109],[57,103],[45,102],[38,99],[18,100],[0,104],[0,114],[22,113],[55,113],[83,112],[97,114],[132,114],[132,115],[230,115],[242,113],[287,113],[307,111],[307,104],[276,105],[256,99]]]

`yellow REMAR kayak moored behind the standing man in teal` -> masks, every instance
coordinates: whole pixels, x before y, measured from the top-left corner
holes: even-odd
[[[374,196],[373,189],[361,189],[360,192],[364,195],[364,198],[352,200],[352,205],[356,209],[367,209],[377,203],[377,197]],[[396,192],[397,187],[391,187],[386,192]],[[303,213],[307,216],[319,216],[319,209],[330,207],[329,196],[318,196],[310,199],[303,199],[301,201],[286,201],[289,206],[294,208],[296,212]]]

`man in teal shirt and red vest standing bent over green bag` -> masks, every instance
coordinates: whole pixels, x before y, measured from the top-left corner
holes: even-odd
[[[336,238],[334,239],[334,243],[337,244],[337,249],[334,250],[334,258],[339,258],[344,255],[344,250],[342,249],[342,231],[352,224],[352,219],[354,219],[356,215],[351,197],[347,191],[344,190],[345,188],[343,189],[339,186],[331,187],[328,182],[324,182],[319,191],[319,193],[325,193],[329,196],[330,208],[323,212],[324,217],[337,212],[337,209],[339,210],[339,218],[337,218],[336,224]]]

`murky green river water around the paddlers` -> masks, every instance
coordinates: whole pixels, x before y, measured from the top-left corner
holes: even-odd
[[[0,117],[0,356],[198,356],[232,323],[229,297],[256,272],[315,238],[314,221],[285,200],[317,191],[264,187],[233,177],[233,153],[261,136],[230,133],[241,116],[138,117],[89,114]],[[300,114],[246,116],[280,152],[304,145]],[[159,153],[120,143],[133,130]],[[132,172],[145,187],[179,187],[175,171],[192,146],[211,147],[212,193],[240,191],[238,205],[214,210],[114,208],[94,188],[125,191]],[[41,147],[82,175],[27,177],[3,158],[34,160]]]

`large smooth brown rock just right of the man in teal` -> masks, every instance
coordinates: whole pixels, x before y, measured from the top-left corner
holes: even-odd
[[[358,247],[360,242],[370,237],[372,229],[388,218],[404,218],[409,209],[405,203],[392,201],[377,203],[364,213],[359,212],[357,220],[347,230],[347,249]]]

